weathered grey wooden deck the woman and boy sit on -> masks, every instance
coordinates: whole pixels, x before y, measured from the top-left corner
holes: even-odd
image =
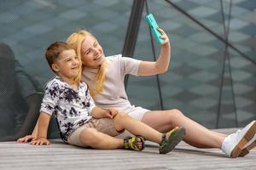
[[[236,129],[218,130],[224,133]],[[201,138],[198,136],[198,138]],[[227,158],[218,149],[196,149],[185,143],[175,150],[159,155],[155,144],[145,150],[89,150],[51,140],[49,146],[33,146],[15,142],[0,143],[0,170],[43,169],[256,169],[256,150],[245,157]]]

